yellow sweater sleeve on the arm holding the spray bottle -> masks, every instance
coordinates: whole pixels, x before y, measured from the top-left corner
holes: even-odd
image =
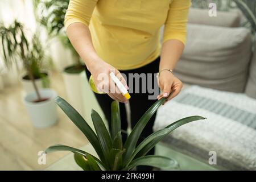
[[[83,23],[89,26],[97,2],[98,0],[70,0],[65,14],[65,28],[72,23]]]

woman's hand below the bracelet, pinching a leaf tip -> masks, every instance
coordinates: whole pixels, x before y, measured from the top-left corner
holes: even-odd
[[[179,80],[179,78],[175,77],[170,71],[162,71],[159,75],[159,88],[162,90],[163,93],[159,94],[157,97],[158,100],[162,97],[168,97],[172,90],[174,92],[170,97],[167,98],[167,100],[163,103],[163,105],[170,101],[172,98],[177,96],[177,94],[180,93],[180,90],[182,88],[182,82]]]

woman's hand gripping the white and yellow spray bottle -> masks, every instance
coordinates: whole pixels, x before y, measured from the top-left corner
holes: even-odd
[[[126,89],[128,89],[125,78],[123,78],[117,69],[103,60],[94,62],[88,69],[90,73],[92,73],[93,81],[98,91],[107,93],[111,98],[113,98],[113,100],[117,100],[125,104],[127,103],[127,99],[119,91],[109,75],[110,72],[115,73],[115,76],[117,76]]]

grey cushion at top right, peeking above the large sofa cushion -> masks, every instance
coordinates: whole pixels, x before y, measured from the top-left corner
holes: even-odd
[[[221,27],[239,27],[241,13],[239,10],[229,12],[217,11],[217,16],[210,17],[208,9],[191,8],[189,10],[188,22]]]

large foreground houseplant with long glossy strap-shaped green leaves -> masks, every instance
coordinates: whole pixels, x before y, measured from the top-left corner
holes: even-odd
[[[177,163],[175,160],[164,156],[147,155],[160,140],[162,140],[171,131],[185,123],[205,119],[200,116],[192,116],[180,119],[166,126],[164,129],[156,131],[145,138],[138,146],[136,145],[142,133],[142,130],[147,125],[147,122],[156,112],[166,98],[162,98],[155,102],[142,118],[137,122],[127,137],[125,143],[122,143],[121,138],[121,121],[119,112],[119,103],[112,102],[112,131],[108,132],[100,115],[92,110],[92,121],[96,133],[90,128],[88,123],[81,115],[61,97],[56,97],[55,102],[64,111],[71,121],[84,133],[86,138],[92,144],[97,152],[96,156],[77,148],[57,144],[46,149],[46,153],[53,151],[71,151],[74,153],[76,163],[84,170],[131,170],[136,166],[153,166],[158,168],[175,168]]]

